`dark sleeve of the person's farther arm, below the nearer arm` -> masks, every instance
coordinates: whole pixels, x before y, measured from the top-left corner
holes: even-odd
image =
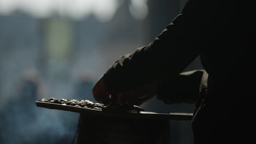
[[[166,104],[195,104],[200,93],[200,83],[204,70],[181,73],[172,80],[158,84],[158,99]]]

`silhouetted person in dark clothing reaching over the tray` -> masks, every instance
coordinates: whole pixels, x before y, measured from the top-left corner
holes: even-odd
[[[93,88],[94,97],[106,101],[111,94],[139,105],[157,94],[170,104],[188,101],[191,90],[191,97],[198,97],[192,121],[195,143],[247,143],[255,125],[254,35],[253,1],[189,0],[152,43],[120,57],[106,71]],[[191,71],[183,79],[179,74],[197,56],[204,74]],[[182,86],[189,83],[183,81],[195,87],[184,88],[186,97]],[[176,82],[180,91],[172,87]]]

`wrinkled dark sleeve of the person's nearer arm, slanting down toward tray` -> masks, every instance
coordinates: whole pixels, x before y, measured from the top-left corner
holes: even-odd
[[[110,93],[129,92],[148,83],[171,80],[199,56],[202,19],[197,0],[189,1],[156,39],[122,56],[104,74]]]

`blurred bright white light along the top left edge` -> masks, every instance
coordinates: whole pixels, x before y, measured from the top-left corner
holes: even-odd
[[[148,0],[130,0],[129,10],[136,20],[143,20],[148,14]],[[53,15],[84,19],[95,15],[100,21],[110,20],[123,1],[120,0],[0,0],[0,15],[10,15],[17,10],[36,18]]]

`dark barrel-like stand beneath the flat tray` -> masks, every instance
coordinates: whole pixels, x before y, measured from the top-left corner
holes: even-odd
[[[168,120],[101,117],[80,114],[77,144],[169,143]]]

